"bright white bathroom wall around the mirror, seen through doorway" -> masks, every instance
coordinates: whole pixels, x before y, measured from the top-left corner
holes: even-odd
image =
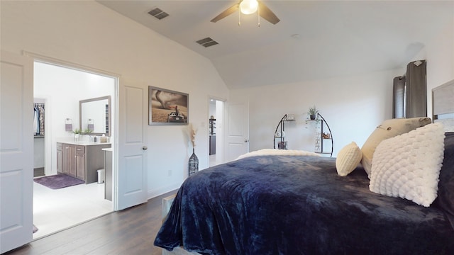
[[[79,128],[79,101],[100,96],[114,96],[115,79],[53,64],[35,62],[33,94],[45,98],[45,173],[57,174],[56,143],[72,140],[65,130],[65,120],[72,120],[72,130]],[[115,109],[115,101],[111,100]],[[115,111],[113,111],[115,113]],[[82,140],[89,137],[82,136]]]

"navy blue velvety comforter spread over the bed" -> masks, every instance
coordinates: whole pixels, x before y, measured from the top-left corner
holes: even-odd
[[[190,176],[155,245],[202,254],[454,254],[445,211],[369,191],[335,160],[262,156]]]

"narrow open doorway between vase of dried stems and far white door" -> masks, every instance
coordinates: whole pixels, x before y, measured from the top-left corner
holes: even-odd
[[[209,166],[223,163],[224,102],[209,98]]]

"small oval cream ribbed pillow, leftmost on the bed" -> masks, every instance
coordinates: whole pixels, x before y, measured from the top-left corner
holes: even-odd
[[[336,170],[338,175],[347,176],[356,166],[360,164],[362,152],[355,142],[345,145],[338,153],[336,158]]]

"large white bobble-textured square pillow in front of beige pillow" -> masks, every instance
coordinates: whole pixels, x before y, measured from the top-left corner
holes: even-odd
[[[428,207],[437,197],[444,151],[443,125],[429,124],[378,145],[370,191]]]

